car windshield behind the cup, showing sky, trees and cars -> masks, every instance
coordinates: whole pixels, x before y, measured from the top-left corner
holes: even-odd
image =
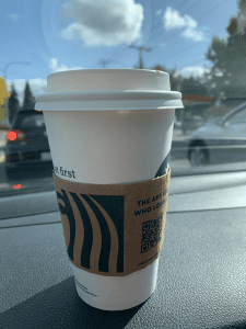
[[[245,170],[246,0],[17,0],[1,8],[0,196],[55,190],[44,113],[34,107],[47,76],[67,70],[167,72],[184,104],[173,123],[172,177]]]

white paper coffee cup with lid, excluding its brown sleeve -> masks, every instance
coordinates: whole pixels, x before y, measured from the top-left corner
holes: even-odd
[[[148,181],[168,171],[175,109],[166,72],[87,69],[51,73],[44,111],[56,175],[91,184]],[[134,307],[154,292],[159,258],[126,276],[87,273],[71,263],[77,291],[89,305],[106,310]]]

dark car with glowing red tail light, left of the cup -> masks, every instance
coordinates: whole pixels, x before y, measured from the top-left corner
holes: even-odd
[[[19,169],[51,162],[45,120],[32,107],[19,110],[7,134],[5,172],[12,178]]]

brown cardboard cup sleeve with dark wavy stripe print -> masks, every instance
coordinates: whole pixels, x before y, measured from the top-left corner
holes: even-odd
[[[70,261],[89,273],[125,276],[157,259],[171,170],[136,183],[89,184],[52,171]]]

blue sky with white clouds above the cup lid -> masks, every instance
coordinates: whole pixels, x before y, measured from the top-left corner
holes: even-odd
[[[236,0],[5,0],[0,3],[0,76],[23,100],[25,81],[34,95],[46,91],[51,72],[68,69],[133,68],[143,65],[202,75],[212,37],[227,37]]]

